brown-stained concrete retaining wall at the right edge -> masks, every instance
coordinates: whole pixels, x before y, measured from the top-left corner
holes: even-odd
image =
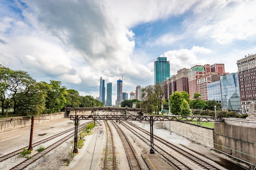
[[[214,148],[234,157],[256,163],[256,127],[215,123],[213,137]]]

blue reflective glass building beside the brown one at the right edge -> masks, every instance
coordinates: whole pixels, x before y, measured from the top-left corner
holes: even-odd
[[[220,77],[222,108],[238,110],[241,108],[238,73]]]

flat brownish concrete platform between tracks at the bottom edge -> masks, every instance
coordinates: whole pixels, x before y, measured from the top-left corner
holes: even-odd
[[[141,154],[150,170],[175,170],[157,154]]]

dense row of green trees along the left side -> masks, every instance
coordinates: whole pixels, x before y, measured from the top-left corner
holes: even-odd
[[[60,112],[65,107],[103,106],[92,96],[80,96],[78,91],[67,89],[60,81],[36,82],[25,71],[13,71],[0,64],[0,104],[2,115],[38,115]]]

